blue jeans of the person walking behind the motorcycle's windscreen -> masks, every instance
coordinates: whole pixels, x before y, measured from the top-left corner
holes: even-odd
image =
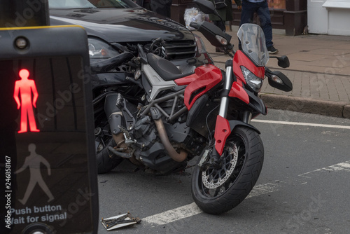
[[[241,11],[241,24],[239,27],[245,23],[252,23],[254,13],[258,14],[260,19],[260,25],[262,31],[265,34],[266,46],[272,46],[274,43],[272,42],[272,25],[271,25],[271,17],[269,15],[269,5],[267,1],[262,1],[259,3],[251,3],[250,1],[243,0],[242,1],[242,11]],[[241,42],[239,41],[239,45]]]

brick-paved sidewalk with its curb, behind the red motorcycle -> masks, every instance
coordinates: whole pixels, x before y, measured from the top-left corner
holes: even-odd
[[[238,48],[237,27],[231,43]],[[268,108],[350,118],[350,36],[307,34],[286,36],[274,29],[277,56],[287,55],[290,67],[278,67],[270,58],[267,67],[282,71],[293,83],[293,91],[276,90],[265,81],[260,95]],[[199,34],[218,67],[224,68],[229,56],[216,53],[214,46]]]

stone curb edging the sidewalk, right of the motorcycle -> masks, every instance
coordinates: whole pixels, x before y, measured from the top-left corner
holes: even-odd
[[[303,113],[316,113],[323,116],[350,118],[349,102],[332,102],[318,99],[292,97],[260,93],[267,108],[282,109]]]

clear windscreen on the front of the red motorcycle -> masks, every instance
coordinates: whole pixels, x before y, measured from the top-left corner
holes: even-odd
[[[243,24],[239,27],[237,36],[241,41],[244,53],[259,67],[265,66],[269,61],[269,52],[261,27],[254,24]]]

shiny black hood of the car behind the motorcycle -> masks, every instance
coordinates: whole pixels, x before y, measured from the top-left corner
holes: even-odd
[[[144,8],[50,9],[51,25],[80,25],[89,36],[97,36],[109,43],[158,38],[165,41],[194,40],[186,27],[160,17]]]

